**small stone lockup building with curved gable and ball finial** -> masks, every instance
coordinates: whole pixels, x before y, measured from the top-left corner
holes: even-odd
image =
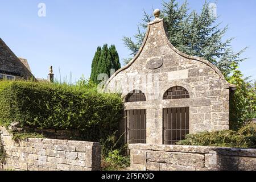
[[[122,93],[127,143],[175,144],[185,134],[229,129],[229,84],[209,61],[169,42],[160,11],[129,64],[106,82]]]

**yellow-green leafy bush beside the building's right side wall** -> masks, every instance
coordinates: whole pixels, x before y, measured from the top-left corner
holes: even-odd
[[[256,89],[251,84],[249,77],[243,78],[237,65],[233,65],[232,76],[227,80],[236,85],[236,91],[230,96],[230,127],[239,129],[245,122],[255,117]]]

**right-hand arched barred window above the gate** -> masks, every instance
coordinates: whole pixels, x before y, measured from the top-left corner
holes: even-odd
[[[182,86],[174,86],[166,91],[163,100],[189,98],[188,90]]]

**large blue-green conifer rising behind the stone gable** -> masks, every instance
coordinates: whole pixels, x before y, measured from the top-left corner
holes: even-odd
[[[233,63],[239,63],[241,53],[232,51],[232,38],[223,41],[228,26],[220,28],[218,17],[211,13],[209,3],[205,2],[200,14],[195,10],[189,11],[187,1],[180,6],[176,0],[163,2],[162,15],[166,24],[167,36],[170,42],[181,52],[188,55],[204,57],[216,65],[224,75],[229,75]],[[138,26],[138,32],[134,35],[135,41],[130,37],[124,37],[125,46],[135,56],[139,51],[145,37],[147,23],[152,16],[144,12],[143,23]],[[130,59],[126,59],[125,62]]]

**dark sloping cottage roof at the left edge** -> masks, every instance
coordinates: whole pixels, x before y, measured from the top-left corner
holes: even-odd
[[[0,38],[0,72],[7,75],[24,77],[26,79],[35,78],[32,75],[27,60],[20,60],[13,51]]]

